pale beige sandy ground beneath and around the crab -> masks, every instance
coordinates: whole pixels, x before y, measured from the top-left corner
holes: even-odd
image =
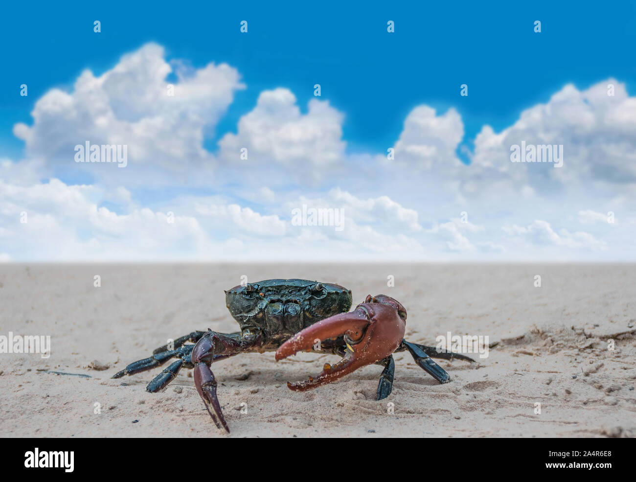
[[[241,275],[338,282],[354,305],[389,294],[408,310],[407,340],[488,335],[489,355],[478,364],[439,361],[452,376],[439,385],[397,354],[393,392],[380,402],[378,366],[292,392],[287,380],[336,358],[238,355],[213,366],[229,435],[214,427],[191,371],[157,394],[145,387],[161,368],[111,380],[168,338],[237,331],[223,289]],[[52,343],[48,359],[0,354],[0,435],[633,437],[635,281],[635,265],[0,265],[0,335],[44,334]]]

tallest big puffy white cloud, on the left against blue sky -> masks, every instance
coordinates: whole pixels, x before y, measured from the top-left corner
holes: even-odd
[[[176,62],[173,68],[164,56],[162,46],[150,43],[100,76],[83,71],[72,92],[49,90],[36,102],[32,125],[13,128],[25,141],[26,156],[94,176],[127,177],[127,182],[132,172],[142,178],[153,169],[183,172],[211,160],[203,147],[204,128],[214,127],[234,93],[244,88],[239,72],[214,63],[189,69]],[[177,81],[169,95],[166,78],[172,72]],[[86,141],[128,146],[127,170],[75,163],[74,146]]]

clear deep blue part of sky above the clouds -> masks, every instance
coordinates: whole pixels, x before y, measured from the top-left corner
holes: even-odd
[[[86,67],[99,74],[148,41],[195,67],[214,60],[242,73],[249,88],[209,133],[211,149],[261,91],[278,86],[292,90],[303,108],[321,83],[323,99],[346,113],[344,137],[354,152],[384,151],[418,104],[455,107],[470,142],[483,124],[504,128],[569,82],[586,88],[614,76],[636,90],[636,62],[627,60],[636,45],[633,2],[366,5],[70,2],[25,15],[24,5],[5,4],[0,39],[11,48],[3,52],[10,68],[0,77],[1,146],[20,155],[23,144],[11,127],[30,121],[48,89],[71,85]],[[93,20],[102,22],[100,35]],[[240,20],[249,22],[248,35],[239,34]],[[387,20],[396,22],[391,36]],[[541,34],[533,32],[534,20],[541,20]],[[28,98],[15,95],[22,83]],[[462,83],[468,97],[459,97]]]

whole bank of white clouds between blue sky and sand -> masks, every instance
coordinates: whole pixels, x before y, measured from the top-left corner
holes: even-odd
[[[13,128],[24,158],[0,159],[0,261],[635,256],[636,98],[614,79],[567,85],[501,132],[484,126],[470,165],[455,109],[412,109],[389,160],[347,152],[344,113],[318,99],[303,113],[286,88],[261,92],[208,151],[242,88],[230,65],[190,67],[151,43],[45,93]],[[126,144],[128,166],[74,162],[85,141]],[[562,144],[563,167],[511,163],[522,141]],[[343,229],[293,226],[303,205],[342,209]],[[590,205],[621,224],[604,230]],[[479,223],[453,217],[462,210]]]

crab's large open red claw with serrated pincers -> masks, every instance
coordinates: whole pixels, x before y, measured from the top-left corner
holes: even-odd
[[[291,390],[314,389],[391,355],[404,338],[405,326],[404,306],[385,294],[369,295],[354,311],[333,315],[296,333],[276,350],[276,359],[311,350],[315,340],[342,336],[347,345],[342,360],[324,364],[320,375],[305,382],[287,382]]]

